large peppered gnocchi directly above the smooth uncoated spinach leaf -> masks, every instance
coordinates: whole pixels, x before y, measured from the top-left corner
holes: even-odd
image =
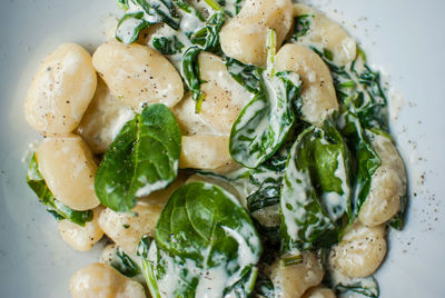
[[[152,102],[174,107],[184,96],[178,71],[150,47],[110,40],[96,50],[92,63],[111,93],[137,112]]]

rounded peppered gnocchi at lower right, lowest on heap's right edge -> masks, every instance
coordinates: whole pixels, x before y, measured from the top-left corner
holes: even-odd
[[[340,274],[360,278],[374,274],[386,256],[386,226],[366,227],[356,221],[333,247],[330,264]]]

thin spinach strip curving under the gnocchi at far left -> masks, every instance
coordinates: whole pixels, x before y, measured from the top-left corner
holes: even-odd
[[[27,182],[34,191],[40,202],[47,207],[48,212],[50,212],[57,220],[68,219],[81,227],[83,227],[86,222],[92,220],[91,210],[77,211],[55,198],[39,171],[36,153],[32,153],[32,158],[29,162]]]

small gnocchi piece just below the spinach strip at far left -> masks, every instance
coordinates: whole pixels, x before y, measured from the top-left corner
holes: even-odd
[[[67,219],[60,220],[58,228],[62,239],[76,250],[90,250],[103,236],[103,231],[98,224],[99,213],[102,209],[102,207],[97,207],[93,210],[92,220],[86,222],[85,227]]]

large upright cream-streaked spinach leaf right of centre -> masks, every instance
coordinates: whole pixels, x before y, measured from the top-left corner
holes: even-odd
[[[350,213],[347,146],[327,120],[305,130],[294,143],[281,189],[281,250],[313,249],[338,241]]]

